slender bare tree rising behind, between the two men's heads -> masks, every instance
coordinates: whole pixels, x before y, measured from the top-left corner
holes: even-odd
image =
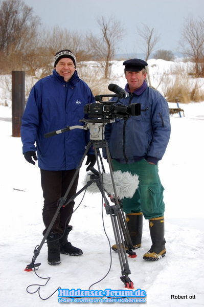
[[[114,60],[115,54],[119,49],[118,44],[124,36],[124,28],[121,21],[110,17],[108,20],[102,16],[97,18],[100,29],[100,36],[94,35],[92,32],[87,35],[87,43],[89,51],[92,53],[93,59],[100,62],[104,70],[104,78],[110,77],[111,61]]]

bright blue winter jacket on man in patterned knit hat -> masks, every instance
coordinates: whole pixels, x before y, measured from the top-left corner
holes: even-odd
[[[73,129],[50,138],[44,138],[44,134],[66,126],[84,125],[79,123],[84,118],[84,105],[93,102],[92,92],[76,71],[69,82],[56,70],[39,80],[31,90],[22,116],[22,152],[37,149],[38,166],[44,170],[76,169],[88,143],[89,131]]]

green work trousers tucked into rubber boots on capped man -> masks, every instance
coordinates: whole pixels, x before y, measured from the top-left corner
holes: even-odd
[[[121,164],[112,160],[114,171],[128,171],[138,174],[139,187],[131,199],[124,198],[123,210],[128,213],[142,212],[145,219],[164,216],[165,204],[163,202],[164,187],[158,176],[158,166],[150,164],[145,159],[131,164]]]

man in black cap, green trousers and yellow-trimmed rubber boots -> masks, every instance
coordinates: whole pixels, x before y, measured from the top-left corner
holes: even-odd
[[[134,248],[141,247],[143,215],[149,220],[152,240],[145,260],[158,260],[165,256],[164,188],[158,176],[158,161],[165,153],[170,138],[168,103],[145,81],[147,62],[130,59],[123,62],[129,97],[120,102],[141,104],[141,115],[128,120],[116,119],[105,127],[114,170],[129,171],[139,176],[139,188],[132,199],[123,200],[123,210]],[[116,245],[112,247],[117,251]]]

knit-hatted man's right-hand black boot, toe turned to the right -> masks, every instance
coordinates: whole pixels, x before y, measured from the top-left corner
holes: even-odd
[[[60,243],[60,253],[69,255],[69,256],[79,256],[82,255],[83,252],[80,248],[72,246],[70,242],[68,242],[67,237],[72,230],[72,226],[68,226],[65,229],[64,235],[59,239]]]

